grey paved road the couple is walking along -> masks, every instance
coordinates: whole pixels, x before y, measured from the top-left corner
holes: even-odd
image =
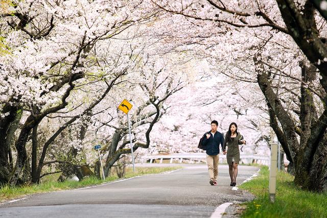
[[[257,171],[239,166],[238,184]],[[219,165],[217,186],[209,185],[206,165],[186,165],[168,174],[32,195],[0,205],[0,217],[210,217],[220,204],[252,199],[229,183],[227,165]]]

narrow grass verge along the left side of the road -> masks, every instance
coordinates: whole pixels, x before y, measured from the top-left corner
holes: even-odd
[[[128,167],[126,168],[126,176],[125,178],[131,178],[135,176],[142,176],[148,174],[158,174],[162,172],[172,171],[174,169],[179,169],[180,167],[136,167],[135,173],[133,173],[133,169]],[[51,177],[50,177],[51,178]],[[55,176],[55,178],[57,178]],[[57,182],[50,181],[51,179],[45,180],[46,182],[42,182],[40,184],[28,185],[28,186],[17,186],[11,187],[9,185],[3,186],[0,188],[0,202],[21,198],[26,195],[31,195],[33,193],[42,193],[42,192],[51,192],[51,191],[60,191],[66,189],[74,189],[81,188],[92,185],[99,185],[102,183],[112,182],[114,180],[119,180],[117,176],[107,177],[106,180],[99,180],[95,177],[90,177],[83,179],[82,181],[65,181],[65,182]]]

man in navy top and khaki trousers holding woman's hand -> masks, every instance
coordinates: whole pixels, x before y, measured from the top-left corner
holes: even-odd
[[[211,131],[205,133],[202,140],[202,146],[206,149],[206,163],[208,165],[209,183],[217,185],[218,162],[219,162],[219,143],[221,148],[224,144],[224,135],[217,131],[218,122],[211,122]]]

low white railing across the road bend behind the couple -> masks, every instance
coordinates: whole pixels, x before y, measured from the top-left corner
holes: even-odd
[[[188,160],[190,163],[194,162],[205,162],[206,154],[205,153],[187,153],[187,154],[157,154],[157,155],[150,155],[147,160],[150,163],[156,162],[159,160],[159,163],[162,163],[163,160],[170,160],[169,163],[173,163],[173,161],[177,161],[182,163],[183,160]],[[226,155],[220,154],[219,155],[219,162],[224,163],[227,162]],[[269,156],[260,156],[260,155],[240,155],[240,163],[259,163],[263,165],[268,165],[270,163]]]

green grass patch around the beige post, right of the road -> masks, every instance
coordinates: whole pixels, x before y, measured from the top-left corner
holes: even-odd
[[[269,201],[269,170],[263,166],[260,176],[240,186],[256,196],[246,202],[241,217],[327,217],[327,192],[301,190],[293,183],[294,177],[278,172],[275,203]]]

